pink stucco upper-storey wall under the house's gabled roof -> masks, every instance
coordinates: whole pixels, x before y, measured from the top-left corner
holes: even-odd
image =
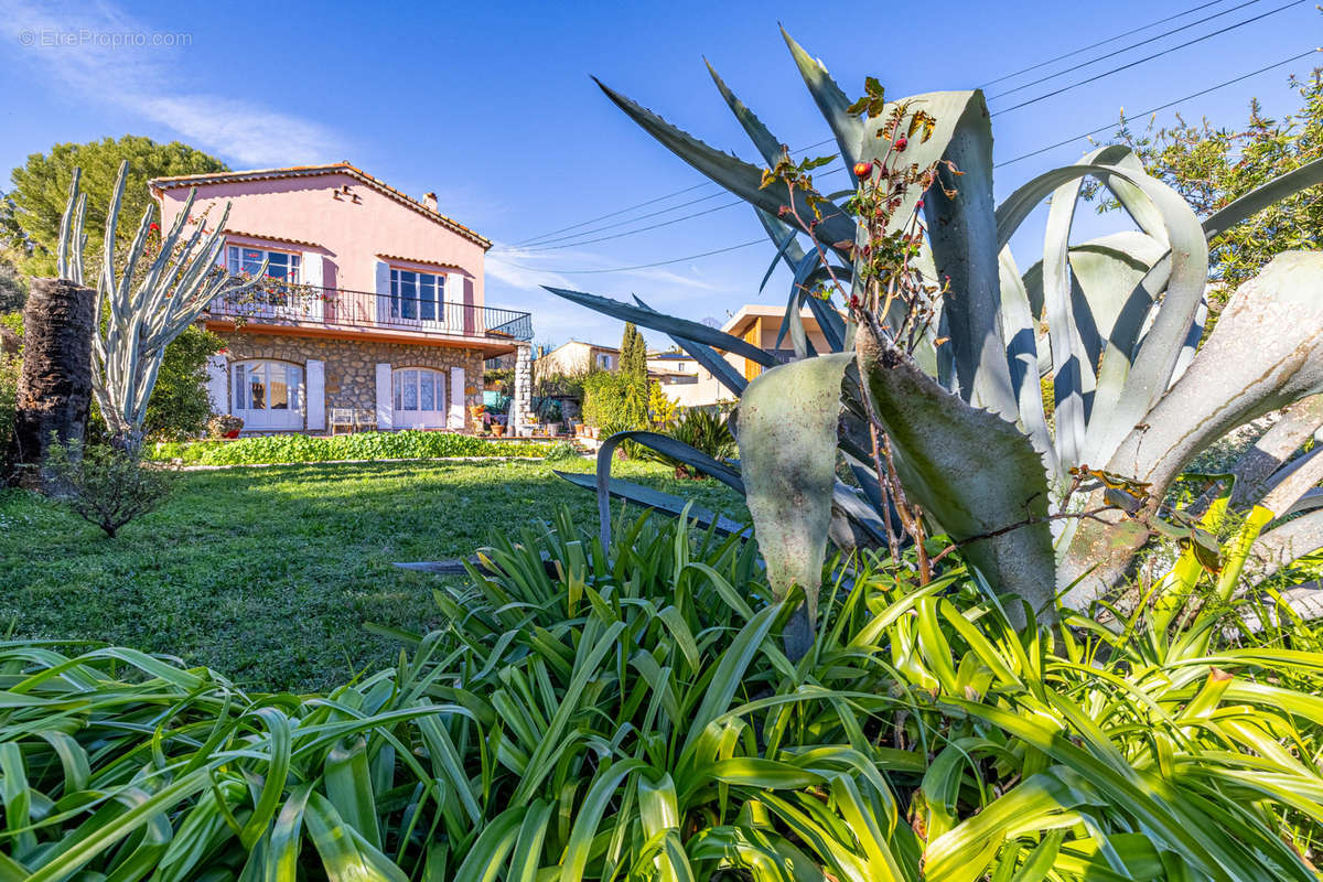
[[[344,192],[345,185],[348,193]],[[188,190],[188,186],[172,186],[161,192],[164,229],[175,222]],[[230,216],[225,227],[250,234],[229,237],[232,243],[300,253],[304,262],[307,255],[321,255],[323,284],[327,287],[374,292],[378,261],[402,268],[454,272],[426,266],[426,262],[434,262],[460,267],[466,278],[463,299],[460,292],[447,290],[448,303],[484,304],[482,245],[356,177],[331,173],[204,184],[197,188],[192,214],[208,213],[208,223],[216,223],[226,201],[230,202]],[[442,214],[446,213],[445,205],[438,208]],[[314,245],[291,245],[278,239]],[[382,254],[407,259],[378,257]]]

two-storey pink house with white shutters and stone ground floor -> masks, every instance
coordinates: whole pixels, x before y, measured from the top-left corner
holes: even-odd
[[[414,200],[348,163],[151,185],[167,229],[191,189],[204,223],[229,202],[226,268],[267,264],[262,291],[205,313],[228,344],[212,358],[212,403],[245,432],[467,430],[484,360],[519,353],[527,365],[529,315],[484,299],[491,242],[438,212],[433,193]],[[524,383],[516,409],[527,395]]]

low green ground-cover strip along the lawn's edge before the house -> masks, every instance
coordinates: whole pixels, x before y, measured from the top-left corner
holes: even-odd
[[[259,435],[237,440],[161,443],[156,460],[185,465],[323,463],[339,459],[435,459],[441,456],[545,456],[549,443],[497,442],[454,432],[355,432],[352,435]]]

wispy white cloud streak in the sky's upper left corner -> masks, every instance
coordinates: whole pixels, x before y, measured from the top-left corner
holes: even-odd
[[[0,0],[0,13],[12,29],[3,41],[9,54],[83,99],[148,119],[239,165],[331,161],[348,152],[319,123],[179,87],[188,73],[181,58],[188,33],[152,30],[107,3]]]

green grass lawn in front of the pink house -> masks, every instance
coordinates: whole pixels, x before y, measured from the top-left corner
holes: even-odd
[[[107,540],[58,505],[0,491],[0,635],[107,641],[180,656],[261,690],[324,689],[398,655],[364,629],[438,624],[439,577],[394,561],[470,554],[594,500],[545,463],[373,463],[187,472],[157,512]],[[591,471],[591,461],[556,463]],[[615,468],[744,520],[714,481]]]

